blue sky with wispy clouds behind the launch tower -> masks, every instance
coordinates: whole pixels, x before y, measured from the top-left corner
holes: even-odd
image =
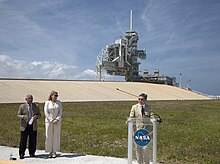
[[[147,51],[140,71],[220,95],[219,0],[0,0],[0,78],[95,80],[97,56],[129,31],[130,10]]]

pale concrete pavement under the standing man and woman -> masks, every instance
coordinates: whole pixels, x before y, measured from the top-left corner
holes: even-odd
[[[9,160],[11,154],[16,160]],[[44,150],[37,150],[36,158],[29,157],[26,150],[25,159],[20,159],[18,148],[0,146],[0,164],[127,164],[127,159],[62,152],[51,159]]]

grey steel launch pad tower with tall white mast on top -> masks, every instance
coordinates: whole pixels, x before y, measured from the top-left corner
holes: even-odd
[[[130,11],[130,30],[124,38],[115,40],[114,44],[106,45],[97,56],[96,73],[97,80],[104,81],[104,71],[113,76],[124,76],[127,82],[147,82],[177,86],[174,77],[161,76],[159,70],[154,74],[148,74],[148,70],[139,74],[139,62],[147,57],[146,49],[138,50],[139,36],[132,29],[132,10]]]

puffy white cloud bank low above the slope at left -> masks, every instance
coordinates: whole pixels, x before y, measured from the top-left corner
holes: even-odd
[[[0,55],[0,77],[3,78],[45,78],[45,79],[92,79],[94,70],[77,73],[77,67],[49,61],[22,61],[7,55]]]

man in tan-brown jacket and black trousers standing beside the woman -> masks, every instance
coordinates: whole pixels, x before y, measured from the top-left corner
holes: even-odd
[[[30,157],[35,157],[37,144],[37,119],[41,116],[39,107],[35,103],[32,103],[33,96],[28,94],[25,100],[26,103],[21,104],[18,110],[21,131],[19,146],[20,159],[24,159],[28,137],[28,150]]]

